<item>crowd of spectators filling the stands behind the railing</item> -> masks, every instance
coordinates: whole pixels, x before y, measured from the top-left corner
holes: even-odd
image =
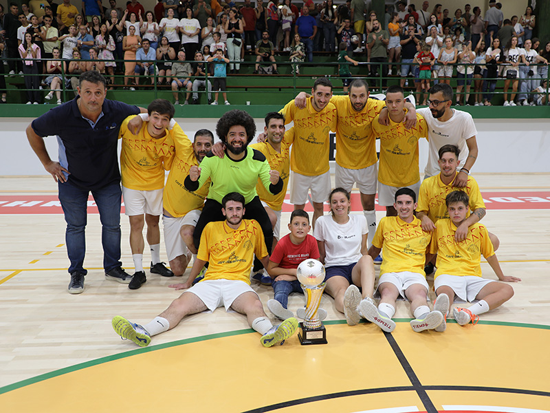
[[[381,78],[378,87],[385,88],[387,76],[401,76],[401,86],[414,78],[410,87],[416,87],[419,100],[422,94],[426,100],[430,81],[450,83],[456,75],[457,103],[491,105],[502,76],[504,104],[529,105],[541,101],[535,91],[547,77],[550,57],[550,43],[532,37],[537,24],[532,8],[505,19],[502,6],[493,0],[483,17],[481,8],[469,4],[450,17],[450,10],[442,10],[441,4],[430,8],[428,1],[419,10],[399,1],[395,8],[386,6],[384,17],[367,10],[364,0],[339,6],[333,0],[305,0],[301,8],[292,0],[256,0],[256,6],[251,0],[239,6],[219,0],[158,0],[148,11],[137,0],[128,1],[124,9],[116,0],[109,0],[109,8],[102,0],[83,0],[80,12],[71,1],[57,5],[30,0],[21,10],[16,3],[5,14],[0,10],[0,53],[10,58],[9,75],[25,74],[28,103],[39,101],[39,93],[30,90],[36,85],[51,87],[46,98],[52,98],[60,85],[70,85],[70,78],[87,67],[107,76],[111,85],[115,74],[124,74],[124,87],[130,89],[154,79],[174,89],[179,81],[172,76],[172,65],[180,50],[188,61],[197,61],[200,54],[205,62],[222,50],[229,59],[228,74],[239,73],[247,51],[256,56],[254,74],[277,74],[275,56],[283,54],[294,63],[292,73],[299,74],[298,63],[313,61],[313,52],[338,56],[344,43],[350,58],[366,56],[370,64],[364,74],[373,87]],[[60,63],[78,57],[86,62]],[[0,67],[1,75],[5,69]],[[191,65],[190,77],[197,76],[197,68]],[[206,70],[214,75],[214,65]],[[148,79],[140,81],[140,76]]]

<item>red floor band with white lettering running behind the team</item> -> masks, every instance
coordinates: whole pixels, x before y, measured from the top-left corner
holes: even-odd
[[[482,192],[487,209],[550,209],[550,191],[525,192]],[[292,211],[289,195],[283,204],[283,212]],[[358,193],[351,195],[351,209],[361,211],[361,201]],[[325,210],[328,205],[325,204]],[[377,211],[385,211],[384,207],[376,205]],[[306,211],[313,211],[311,204],[307,204]],[[124,205],[122,206],[124,212]],[[0,195],[0,215],[25,215],[63,213],[61,204],[55,195]],[[98,213],[94,198],[89,197],[88,213]]]

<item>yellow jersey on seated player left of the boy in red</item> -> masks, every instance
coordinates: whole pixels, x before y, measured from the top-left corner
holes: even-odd
[[[197,258],[208,261],[207,279],[236,279],[250,284],[250,268],[254,254],[260,259],[267,255],[260,224],[242,220],[238,229],[226,221],[208,222],[201,235]]]

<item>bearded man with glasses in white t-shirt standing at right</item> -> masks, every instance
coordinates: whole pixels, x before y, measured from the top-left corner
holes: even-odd
[[[459,163],[463,166],[452,184],[454,187],[465,187],[470,169],[478,156],[476,125],[472,115],[451,109],[453,93],[450,85],[438,83],[428,93],[428,107],[418,109],[428,125],[429,153],[424,178],[439,173],[439,148],[443,145],[456,145],[461,153]]]

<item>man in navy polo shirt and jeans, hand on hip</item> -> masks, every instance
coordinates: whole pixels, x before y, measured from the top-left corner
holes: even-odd
[[[71,265],[69,293],[84,290],[83,268],[87,201],[91,191],[102,224],[105,278],[129,284],[131,275],[120,262],[120,171],[118,129],[122,120],[146,112],[137,106],[107,100],[105,78],[98,72],[84,72],[79,78],[78,96],[36,118],[27,127],[27,138],[46,171],[58,182],[59,200],[67,230],[65,241]],[[44,136],[56,136],[59,162],[50,159]]]

